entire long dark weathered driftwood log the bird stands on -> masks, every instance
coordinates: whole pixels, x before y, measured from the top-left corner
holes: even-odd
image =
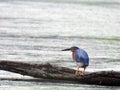
[[[87,72],[84,76],[75,77],[74,69],[47,64],[31,64],[16,61],[0,61],[0,70],[49,80],[73,81],[81,84],[120,86],[120,72],[99,71]]]

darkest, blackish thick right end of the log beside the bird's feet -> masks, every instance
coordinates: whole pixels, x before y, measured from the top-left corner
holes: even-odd
[[[92,72],[78,81],[86,84],[120,86],[120,72],[113,70]]]

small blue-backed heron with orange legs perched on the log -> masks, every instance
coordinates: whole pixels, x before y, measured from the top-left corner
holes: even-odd
[[[78,76],[79,68],[84,68],[84,70],[81,71],[81,73],[80,73],[80,75],[84,75],[85,69],[89,65],[89,56],[88,56],[87,52],[76,46],[67,48],[67,49],[63,49],[62,51],[72,51],[72,58],[73,58],[73,60],[75,60],[75,62],[77,64],[75,76]]]

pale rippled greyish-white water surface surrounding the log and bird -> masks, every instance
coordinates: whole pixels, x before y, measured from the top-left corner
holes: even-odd
[[[78,46],[90,57],[86,71],[120,71],[120,1],[1,0],[0,60],[76,68],[71,52]],[[0,78],[32,77],[0,71]],[[0,81],[0,90],[120,90],[72,83]]]

